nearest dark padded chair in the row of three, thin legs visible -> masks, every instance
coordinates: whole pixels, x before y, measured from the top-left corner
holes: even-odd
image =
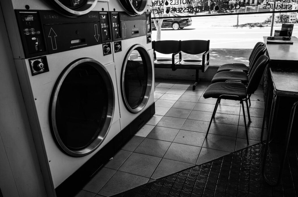
[[[212,120],[215,117],[215,113],[216,113],[216,110],[217,110],[220,100],[221,99],[229,99],[229,100],[240,101],[240,104],[242,105],[244,126],[245,126],[245,132],[246,132],[246,140],[247,140],[247,144],[249,144],[243,101],[246,102],[247,113],[248,113],[248,118],[249,118],[249,122],[250,122],[250,115],[249,115],[249,108],[248,108],[247,101],[248,101],[250,95],[252,95],[257,90],[260,80],[263,76],[265,67],[268,63],[268,59],[269,58],[266,55],[262,55],[258,58],[254,67],[252,68],[252,71],[251,71],[252,74],[249,75],[249,83],[248,83],[247,87],[246,87],[246,85],[244,85],[241,82],[218,82],[218,83],[209,85],[209,87],[207,88],[203,97],[204,98],[217,98],[217,100],[216,100],[216,104],[215,104],[215,107],[213,110],[213,114],[212,114],[205,138],[207,138],[207,135],[209,133],[209,129],[210,129]]]

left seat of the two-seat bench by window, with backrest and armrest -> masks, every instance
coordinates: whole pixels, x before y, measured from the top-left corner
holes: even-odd
[[[181,41],[178,40],[160,40],[152,41],[153,55],[154,55],[154,67],[155,68],[172,68],[173,64],[178,63],[181,60],[180,51]],[[156,52],[162,54],[172,54],[172,57],[156,57]],[[175,55],[179,54],[179,59],[175,62]]]

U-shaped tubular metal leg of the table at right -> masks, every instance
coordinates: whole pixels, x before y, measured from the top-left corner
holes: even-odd
[[[272,103],[272,107],[274,106],[275,107],[275,104],[276,104],[276,96],[274,96],[274,100],[273,100],[274,104]],[[290,137],[291,137],[291,130],[292,130],[292,125],[293,125],[293,121],[294,121],[294,115],[295,115],[295,111],[296,111],[296,107],[298,105],[298,101],[296,101],[293,106],[292,106],[292,109],[291,109],[291,115],[290,115],[290,119],[289,119],[289,123],[288,123],[288,130],[287,130],[287,136],[286,136],[286,142],[285,142],[285,150],[284,150],[284,153],[283,153],[283,161],[282,161],[282,164],[280,166],[280,170],[279,170],[279,174],[278,174],[278,177],[277,177],[277,182],[275,184],[272,184],[268,181],[268,179],[266,178],[265,176],[265,165],[266,165],[266,153],[267,153],[267,149],[268,149],[268,146],[269,146],[269,143],[266,143],[265,145],[265,150],[264,150],[264,158],[263,158],[263,165],[262,165],[262,174],[263,174],[263,178],[265,179],[266,183],[268,185],[271,185],[271,186],[277,186],[280,182],[280,179],[281,179],[281,176],[283,174],[283,168],[284,168],[284,165],[285,165],[285,160],[286,160],[286,157],[287,157],[287,151],[288,151],[288,145],[289,145],[289,141],[290,141]],[[272,108],[271,107],[271,108]],[[273,109],[274,110],[274,109]],[[274,112],[274,111],[273,111]],[[271,113],[270,115],[270,121],[269,121],[269,128],[270,130],[268,130],[268,136],[267,136],[267,142],[268,140],[270,139],[270,133],[271,133],[271,126],[272,126],[272,120],[271,120],[271,116],[273,114]],[[273,118],[272,118],[273,119]]]

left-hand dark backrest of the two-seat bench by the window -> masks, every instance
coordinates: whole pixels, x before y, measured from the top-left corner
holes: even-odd
[[[160,40],[153,41],[152,48],[154,51],[163,54],[177,53],[180,51],[180,43],[178,40]]]

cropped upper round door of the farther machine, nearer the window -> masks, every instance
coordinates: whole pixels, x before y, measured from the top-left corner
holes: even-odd
[[[145,12],[148,0],[119,0],[126,12],[131,16],[141,15]]]

